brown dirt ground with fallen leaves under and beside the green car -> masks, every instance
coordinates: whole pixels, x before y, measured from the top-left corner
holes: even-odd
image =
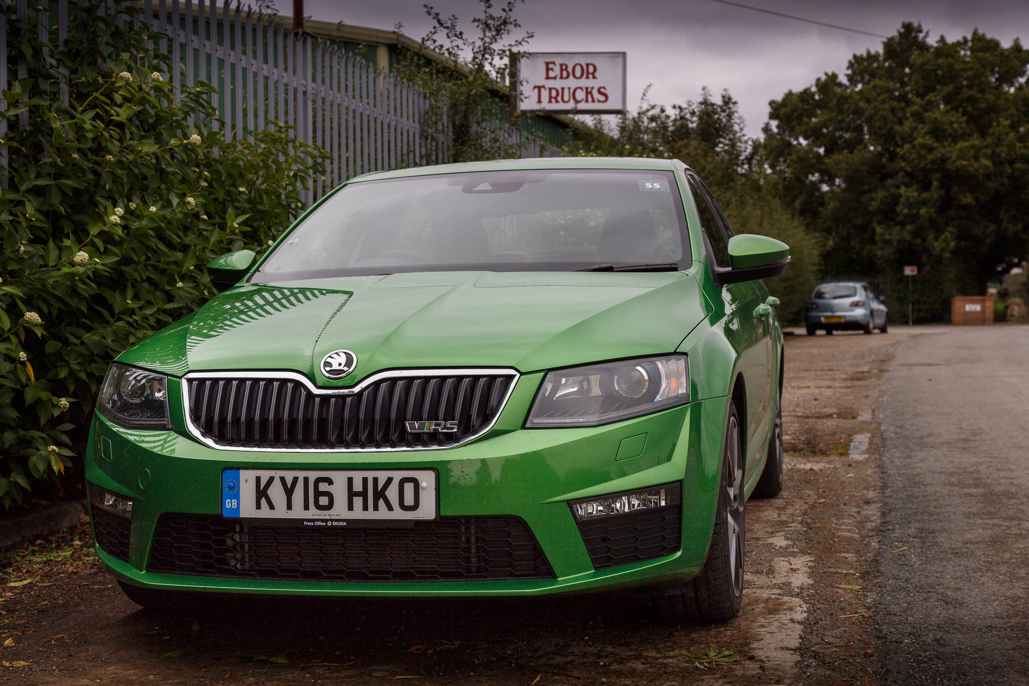
[[[743,611],[725,624],[677,625],[633,593],[144,612],[83,523],[0,557],[0,684],[877,684],[875,411],[892,348],[923,330],[787,336],[786,485],[747,504]]]

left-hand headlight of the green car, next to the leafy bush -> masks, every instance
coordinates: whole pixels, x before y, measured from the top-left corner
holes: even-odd
[[[100,387],[97,411],[130,429],[170,429],[168,377],[114,363]]]

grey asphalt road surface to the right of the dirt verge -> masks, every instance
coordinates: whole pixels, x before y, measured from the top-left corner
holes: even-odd
[[[1029,329],[948,327],[895,352],[877,412],[883,681],[1027,684]]]

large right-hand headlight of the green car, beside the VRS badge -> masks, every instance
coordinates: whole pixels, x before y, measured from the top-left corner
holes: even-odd
[[[591,364],[548,372],[525,426],[596,427],[687,402],[684,355]]]

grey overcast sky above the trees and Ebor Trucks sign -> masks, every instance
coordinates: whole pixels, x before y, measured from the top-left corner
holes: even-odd
[[[921,22],[933,40],[941,34],[953,40],[974,28],[1005,45],[1016,37],[1029,37],[1029,0],[740,2],[884,35],[895,33],[901,22],[914,21]],[[465,22],[478,8],[475,0],[431,4]],[[283,14],[292,12],[292,0],[276,0],[276,6]],[[430,26],[418,0],[306,0],[305,13],[379,29],[402,22],[403,33],[415,39]],[[854,52],[878,49],[882,43],[880,38],[712,0],[527,0],[518,16],[525,30],[535,33],[530,51],[626,51],[630,109],[636,108],[648,83],[650,101],[661,104],[696,100],[704,85],[715,94],[729,88],[752,136],[768,119],[770,100],[811,85],[824,72],[842,73]]]

